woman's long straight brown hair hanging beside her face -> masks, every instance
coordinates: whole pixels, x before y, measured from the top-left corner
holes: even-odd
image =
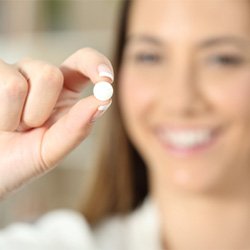
[[[119,76],[126,41],[127,21],[132,1],[124,1],[114,57],[115,73]],[[118,81],[119,82],[119,81]],[[114,84],[115,93],[118,93]],[[128,138],[123,126],[118,94],[112,107],[98,154],[96,173],[84,202],[82,213],[91,225],[114,214],[124,214],[138,207],[148,194],[145,164]]]

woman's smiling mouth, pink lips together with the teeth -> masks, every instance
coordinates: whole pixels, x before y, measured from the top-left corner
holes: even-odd
[[[218,129],[211,128],[161,128],[157,137],[168,149],[179,152],[194,152],[208,147],[216,138]]]

